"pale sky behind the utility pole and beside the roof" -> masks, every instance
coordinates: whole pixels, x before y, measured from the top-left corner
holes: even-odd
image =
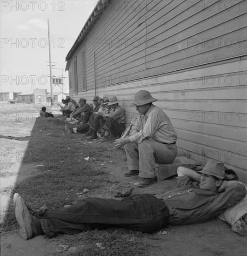
[[[48,25],[51,35],[52,74],[65,76],[65,58],[98,0],[1,0],[0,92],[35,88],[50,92]],[[63,69],[63,70],[62,70]],[[56,85],[54,92],[61,89]]]

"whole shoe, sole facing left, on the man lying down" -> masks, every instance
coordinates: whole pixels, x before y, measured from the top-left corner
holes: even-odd
[[[27,205],[18,193],[14,194],[13,202],[15,217],[20,225],[20,236],[28,240],[34,236],[43,234],[40,220],[30,214]]]

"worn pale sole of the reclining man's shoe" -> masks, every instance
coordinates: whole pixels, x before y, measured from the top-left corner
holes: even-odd
[[[20,236],[25,240],[32,238],[28,231],[28,226],[32,223],[31,214],[29,213],[24,200],[17,193],[14,195],[14,210],[16,220],[20,226]]]

